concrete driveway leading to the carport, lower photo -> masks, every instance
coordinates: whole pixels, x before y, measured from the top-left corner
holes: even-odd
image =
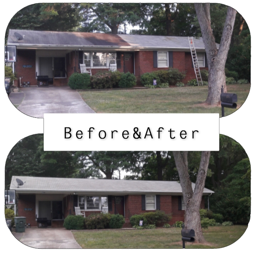
[[[23,244],[40,249],[81,249],[70,230],[65,228],[26,228],[24,233],[12,232]]]

